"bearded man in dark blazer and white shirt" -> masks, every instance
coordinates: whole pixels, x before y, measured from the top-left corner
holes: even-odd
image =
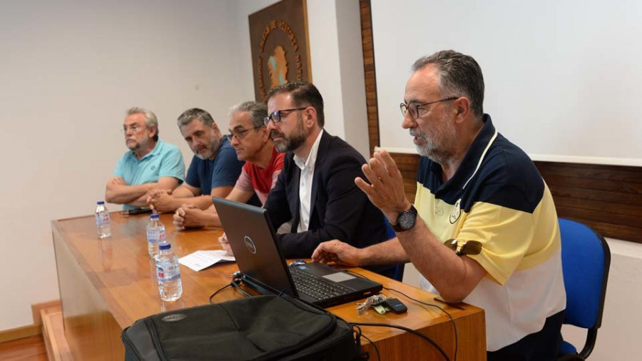
[[[387,240],[383,214],[355,185],[355,178],[363,177],[365,158],[323,129],[317,88],[286,83],[272,88],[266,99],[267,130],[277,151],[287,152],[265,202],[275,228],[292,220],[290,233],[278,235],[285,258],[310,258],[326,240],[357,248]]]

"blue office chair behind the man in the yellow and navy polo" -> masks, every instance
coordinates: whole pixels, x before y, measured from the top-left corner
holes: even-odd
[[[586,328],[587,333],[579,353],[574,345],[562,341],[558,360],[585,360],[602,324],[611,250],[601,235],[582,223],[560,218],[559,230],[566,288],[564,324]]]

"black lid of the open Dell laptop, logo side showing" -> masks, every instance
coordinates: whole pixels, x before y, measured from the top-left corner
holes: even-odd
[[[297,297],[285,258],[275,245],[267,211],[223,198],[212,200],[244,277],[277,295]]]

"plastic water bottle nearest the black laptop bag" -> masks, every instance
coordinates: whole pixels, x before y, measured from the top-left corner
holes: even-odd
[[[183,294],[178,257],[172,252],[172,246],[169,243],[161,243],[159,248],[160,253],[156,256],[158,293],[161,293],[163,301],[175,301]]]

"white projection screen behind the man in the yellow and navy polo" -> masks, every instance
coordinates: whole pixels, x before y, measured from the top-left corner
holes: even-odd
[[[536,161],[642,166],[642,1],[372,0],[380,146],[414,153],[399,103],[420,56],[473,56],[484,112]]]

